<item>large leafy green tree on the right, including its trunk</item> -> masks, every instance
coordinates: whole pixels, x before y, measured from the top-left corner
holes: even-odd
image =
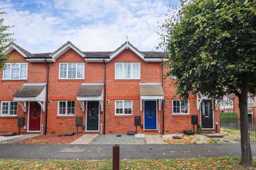
[[[241,164],[252,166],[247,94],[256,88],[256,1],[183,1],[160,28],[168,56],[166,76],[177,77],[180,97],[239,98]]]

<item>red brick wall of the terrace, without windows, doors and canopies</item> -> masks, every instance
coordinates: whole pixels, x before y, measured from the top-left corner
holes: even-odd
[[[26,60],[18,53],[13,51],[10,61],[26,62]],[[85,78],[83,80],[59,80],[59,63],[60,62],[83,62],[85,63]],[[115,63],[116,62],[139,62],[141,67],[140,80],[115,80]],[[81,105],[76,101],[75,116],[58,116],[58,100],[76,100],[76,94],[82,82],[103,83],[104,67],[103,63],[88,63],[84,58],[78,55],[74,50],[70,49],[60,56],[55,63],[50,64],[50,81],[49,81],[49,100],[48,104],[48,121],[47,131],[49,133],[63,133],[67,131],[76,132],[75,116],[83,116],[83,125],[85,125],[85,112],[82,112]],[[2,72],[0,72],[2,78]],[[140,115],[143,124],[143,111],[140,111],[140,92],[139,82],[162,82],[162,65],[161,63],[150,63],[143,61],[139,56],[135,55],[131,50],[124,50],[121,54],[106,63],[106,99],[110,102],[106,104],[106,133],[127,133],[127,131],[135,131],[134,116]],[[175,89],[172,81],[166,79],[164,83],[165,99],[164,103],[164,125],[165,133],[183,132],[191,130],[191,115],[198,115],[200,123],[200,111],[197,111],[196,97],[190,97],[189,115],[172,115],[172,99]],[[12,95],[25,82],[46,82],[46,64],[45,63],[29,63],[28,64],[28,80],[1,80],[0,100],[12,100]],[[131,99],[133,105],[133,114],[131,116],[115,116],[115,100]],[[157,102],[158,105],[158,102]],[[162,110],[162,108],[161,108]],[[27,124],[27,114],[23,114],[21,107],[18,105],[18,117],[25,116]],[[44,123],[45,113],[42,112],[42,124]],[[157,108],[157,124],[160,124],[162,133],[162,111]],[[214,122],[219,122],[219,111],[214,110]],[[103,123],[103,114],[100,114],[100,123]],[[219,127],[219,126],[218,126]],[[0,133],[6,131],[18,131],[17,117],[0,117]],[[219,129],[219,128],[218,128]],[[22,132],[25,132],[21,128]],[[219,131],[219,130],[218,130]],[[82,127],[79,127],[82,132]],[[84,130],[83,130],[83,133]],[[138,133],[148,133],[138,126]],[[149,132],[151,133],[151,132]],[[155,132],[154,132],[155,133]]]

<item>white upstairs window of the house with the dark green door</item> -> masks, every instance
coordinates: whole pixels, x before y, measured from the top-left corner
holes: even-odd
[[[84,63],[60,63],[59,79],[84,79]]]

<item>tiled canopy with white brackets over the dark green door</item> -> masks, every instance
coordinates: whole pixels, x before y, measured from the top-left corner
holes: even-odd
[[[84,111],[84,101],[99,101],[100,111],[103,111],[103,83],[82,83],[77,92],[77,101]]]

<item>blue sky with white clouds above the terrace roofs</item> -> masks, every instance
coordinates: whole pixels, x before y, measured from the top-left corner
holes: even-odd
[[[53,52],[66,41],[83,51],[111,51],[126,35],[138,49],[156,50],[157,22],[166,18],[169,5],[179,0],[0,0],[15,43],[31,53]]]

